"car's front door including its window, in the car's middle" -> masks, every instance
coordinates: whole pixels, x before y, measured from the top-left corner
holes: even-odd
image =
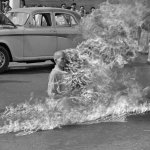
[[[24,30],[24,57],[53,56],[57,48],[56,30],[53,27],[51,13],[35,13],[31,23]]]

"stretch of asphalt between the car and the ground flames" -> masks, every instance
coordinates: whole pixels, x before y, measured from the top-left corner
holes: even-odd
[[[11,63],[9,70],[0,75],[0,109],[35,97],[47,96],[48,76],[52,63]]]

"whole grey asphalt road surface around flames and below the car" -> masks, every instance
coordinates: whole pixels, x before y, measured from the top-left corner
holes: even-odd
[[[136,69],[137,80],[150,85],[150,65],[146,56],[137,59],[129,69]],[[47,96],[49,63],[12,65],[0,75],[0,107]],[[150,114],[128,118],[124,123],[74,125],[31,135],[0,135],[0,150],[150,150]]]

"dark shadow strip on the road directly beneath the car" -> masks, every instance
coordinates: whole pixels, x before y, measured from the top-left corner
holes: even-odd
[[[2,73],[2,75],[49,73],[53,68],[53,64],[10,66],[7,71]]]

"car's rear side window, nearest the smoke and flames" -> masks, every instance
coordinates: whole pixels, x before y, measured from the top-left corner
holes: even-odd
[[[71,27],[77,25],[74,17],[65,13],[55,13],[56,26]]]

